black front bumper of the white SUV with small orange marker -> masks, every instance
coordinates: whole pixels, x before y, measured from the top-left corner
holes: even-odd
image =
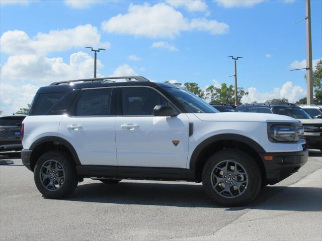
[[[265,160],[271,156],[272,160]],[[270,185],[278,183],[302,167],[308,158],[308,149],[299,152],[262,153],[261,158],[266,170],[267,182]]]

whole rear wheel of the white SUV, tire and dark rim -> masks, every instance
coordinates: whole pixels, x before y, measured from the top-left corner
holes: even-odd
[[[38,190],[48,198],[68,196],[78,184],[75,165],[62,151],[43,154],[35,165],[34,179]]]

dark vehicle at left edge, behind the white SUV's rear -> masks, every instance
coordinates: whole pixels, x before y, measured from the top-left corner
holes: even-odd
[[[25,114],[0,115],[0,151],[21,151],[21,124]]]

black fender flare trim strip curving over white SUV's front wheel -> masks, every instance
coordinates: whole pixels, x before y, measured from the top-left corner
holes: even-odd
[[[195,148],[190,158],[189,168],[192,170],[195,170],[198,156],[205,147],[207,147],[211,143],[214,143],[217,141],[226,141],[226,140],[238,141],[238,142],[244,143],[252,147],[253,149],[255,149],[257,153],[265,152],[264,148],[260,144],[252,140],[251,138],[245,137],[243,135],[238,135],[238,134],[219,134],[219,135],[215,135],[207,138]]]

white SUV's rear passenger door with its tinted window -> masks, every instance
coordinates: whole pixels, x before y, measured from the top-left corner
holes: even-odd
[[[71,107],[73,115],[60,122],[58,137],[73,146],[83,165],[117,166],[114,90],[83,89]]]

